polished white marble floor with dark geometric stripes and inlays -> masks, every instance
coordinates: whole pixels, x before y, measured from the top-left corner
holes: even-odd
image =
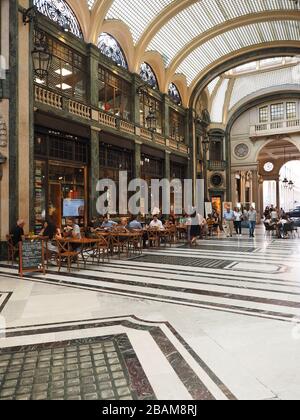
[[[0,265],[0,399],[300,399],[300,239]],[[170,386],[172,384],[172,386]]]

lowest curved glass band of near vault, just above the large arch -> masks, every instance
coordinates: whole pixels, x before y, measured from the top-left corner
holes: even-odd
[[[188,83],[214,61],[236,50],[272,41],[299,41],[299,21],[268,21],[242,26],[225,32],[194,50],[177,68],[186,75]]]

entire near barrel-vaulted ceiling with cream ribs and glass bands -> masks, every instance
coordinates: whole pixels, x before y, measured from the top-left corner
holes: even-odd
[[[129,69],[148,61],[161,90],[181,81],[192,92],[220,63],[247,51],[300,48],[293,0],[66,0],[87,42],[101,32],[122,46]]]

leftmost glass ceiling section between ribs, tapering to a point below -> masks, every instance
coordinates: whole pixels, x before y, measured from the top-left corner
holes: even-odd
[[[106,19],[125,22],[136,43],[151,21],[173,0],[115,0]]]

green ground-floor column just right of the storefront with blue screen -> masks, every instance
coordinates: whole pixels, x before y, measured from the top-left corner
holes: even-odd
[[[100,130],[96,128],[91,129],[91,152],[90,152],[90,200],[89,200],[89,217],[90,220],[97,216],[97,199],[98,193],[96,191],[97,183],[100,176],[100,144],[99,144]]]

